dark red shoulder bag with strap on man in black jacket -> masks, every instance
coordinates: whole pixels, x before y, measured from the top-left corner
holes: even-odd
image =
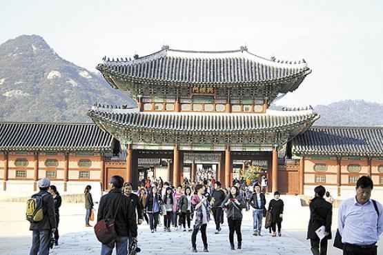
[[[123,194],[121,194],[121,198],[119,199],[119,203],[117,204],[117,210],[112,218],[105,218],[95,225],[95,234],[100,243],[104,245],[109,245],[114,242],[117,238],[117,232],[115,230],[115,219],[117,217],[117,213],[119,212],[121,206],[121,199]]]

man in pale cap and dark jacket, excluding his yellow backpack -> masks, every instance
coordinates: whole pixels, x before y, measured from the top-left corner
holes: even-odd
[[[50,181],[43,178],[38,183],[40,192],[37,196],[42,197],[43,219],[41,221],[30,223],[29,230],[32,230],[32,247],[30,255],[48,255],[50,237],[56,231],[55,201],[48,192]]]

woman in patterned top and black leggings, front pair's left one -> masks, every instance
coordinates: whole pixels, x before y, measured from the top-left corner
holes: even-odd
[[[196,238],[197,233],[201,231],[202,242],[204,242],[204,252],[208,252],[206,227],[210,221],[210,204],[208,199],[202,195],[205,192],[204,185],[196,185],[195,192],[197,194],[195,194],[191,200],[192,205],[195,206],[195,221],[192,234],[192,251],[197,252]]]

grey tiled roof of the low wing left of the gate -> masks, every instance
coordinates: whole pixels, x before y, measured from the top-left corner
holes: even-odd
[[[112,150],[112,136],[95,124],[0,123],[1,150]]]

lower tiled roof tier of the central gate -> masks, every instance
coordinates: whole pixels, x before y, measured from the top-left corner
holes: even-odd
[[[273,111],[266,114],[137,112],[92,108],[88,115],[96,123],[107,122],[126,128],[176,132],[248,132],[284,130],[288,126],[311,125],[319,116],[313,110]]]

